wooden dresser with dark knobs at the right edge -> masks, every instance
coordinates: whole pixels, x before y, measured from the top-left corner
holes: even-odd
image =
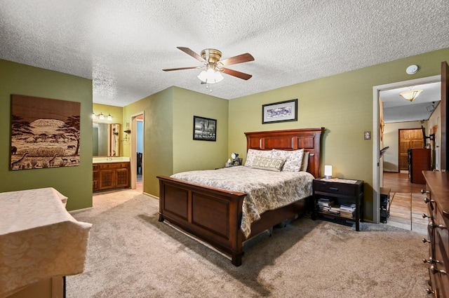
[[[423,171],[426,180],[426,194],[429,214],[423,215],[429,219],[429,264],[430,287],[429,294],[434,297],[449,297],[449,175],[448,172]]]

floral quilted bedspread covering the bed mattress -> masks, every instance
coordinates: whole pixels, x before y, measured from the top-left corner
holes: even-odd
[[[311,196],[314,180],[309,172],[273,172],[245,166],[180,172],[171,177],[246,193],[241,219],[246,237],[251,233],[251,223],[260,219],[263,212]]]

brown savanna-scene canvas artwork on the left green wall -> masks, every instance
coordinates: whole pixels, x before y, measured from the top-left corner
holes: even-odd
[[[10,170],[79,165],[80,102],[11,95]]]

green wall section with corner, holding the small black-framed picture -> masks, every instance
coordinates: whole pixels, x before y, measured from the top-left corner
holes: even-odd
[[[123,107],[123,122],[144,112],[144,192],[159,196],[158,175],[217,168],[227,161],[228,100],[170,87]],[[217,141],[194,141],[193,116],[217,119]],[[124,145],[124,156],[130,146]]]

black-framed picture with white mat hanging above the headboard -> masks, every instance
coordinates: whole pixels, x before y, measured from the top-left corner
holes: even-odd
[[[262,105],[262,124],[297,121],[297,99]]]

